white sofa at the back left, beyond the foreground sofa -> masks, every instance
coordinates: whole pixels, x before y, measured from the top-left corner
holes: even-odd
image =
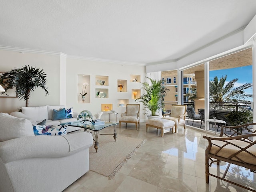
[[[44,105],[39,107],[21,107],[22,112],[14,111],[10,115],[14,117],[28,119],[33,125],[36,125],[46,119],[44,125],[60,125],[60,123],[68,123],[77,121],[78,113],[73,112],[73,118],[53,120],[53,110],[60,110],[65,108],[64,105]],[[76,131],[80,128],[70,127],[67,128],[67,133]]]

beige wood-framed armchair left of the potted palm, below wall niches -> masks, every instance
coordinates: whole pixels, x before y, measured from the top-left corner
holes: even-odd
[[[122,117],[119,119],[119,128],[121,123],[135,123],[136,130],[137,124],[140,125],[140,104],[127,104],[126,112],[122,113]]]

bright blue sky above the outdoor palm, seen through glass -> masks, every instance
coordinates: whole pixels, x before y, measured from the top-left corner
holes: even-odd
[[[225,75],[227,75],[227,83],[232,79],[238,78],[238,81],[235,83],[235,87],[243,85],[244,83],[252,83],[252,65],[236,67],[232,69],[209,71],[210,81],[212,81],[215,76],[217,76],[218,79],[220,79],[220,77]],[[252,88],[247,89],[246,93],[252,94]],[[252,101],[252,98],[248,98],[247,100]]]

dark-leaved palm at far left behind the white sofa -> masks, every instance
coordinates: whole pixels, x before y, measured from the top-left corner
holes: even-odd
[[[36,67],[30,67],[29,65],[25,65],[21,69],[16,68],[2,73],[0,75],[0,84],[4,85],[6,94],[8,94],[8,89],[15,87],[18,98],[26,101],[26,107],[29,106],[30,93],[35,88],[41,87],[46,92],[46,95],[49,94],[45,86],[46,74],[43,72],[43,69],[36,69]]]

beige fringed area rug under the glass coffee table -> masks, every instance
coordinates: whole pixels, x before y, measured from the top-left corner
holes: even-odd
[[[94,144],[89,148],[90,170],[111,179],[146,140],[118,135],[115,142],[111,135],[99,135],[98,142],[98,152]]]

